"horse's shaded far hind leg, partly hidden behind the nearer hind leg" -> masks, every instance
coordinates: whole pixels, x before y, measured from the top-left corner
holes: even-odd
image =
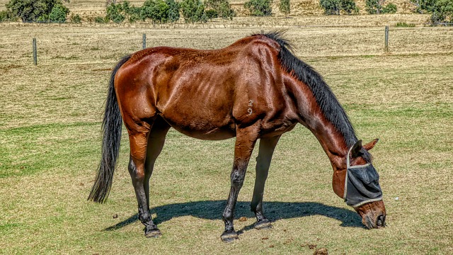
[[[170,125],[161,117],[157,117],[148,137],[147,159],[145,160],[144,192],[149,206],[149,179],[153,173],[154,163],[164,148],[165,137]]]

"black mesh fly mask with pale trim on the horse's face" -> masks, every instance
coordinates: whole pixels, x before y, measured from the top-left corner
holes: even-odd
[[[345,193],[343,194],[346,204],[357,208],[366,203],[382,200],[379,174],[377,174],[376,169],[371,163],[350,166],[351,149],[346,156],[348,170],[346,171]]]

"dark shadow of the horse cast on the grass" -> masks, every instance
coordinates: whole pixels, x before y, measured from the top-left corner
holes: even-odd
[[[151,209],[151,213],[156,213],[154,223],[159,224],[171,220],[173,217],[193,216],[207,220],[222,220],[222,212],[226,205],[226,200],[207,200],[190,203],[174,203],[170,205],[161,205]],[[271,222],[277,220],[289,219],[294,217],[306,217],[311,215],[323,215],[341,221],[342,227],[363,227],[362,220],[357,213],[344,208],[336,208],[321,203],[288,203],[288,202],[265,202],[265,213]],[[254,217],[250,211],[249,202],[238,201],[236,203],[237,217],[246,216]],[[111,231],[120,229],[132,222],[138,220],[137,215],[117,223],[105,230]],[[253,228],[253,225],[244,227],[242,231]]]

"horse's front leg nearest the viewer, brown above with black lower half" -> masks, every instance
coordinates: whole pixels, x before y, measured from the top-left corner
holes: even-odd
[[[234,231],[234,208],[238,199],[239,191],[243,185],[243,179],[246,176],[248,161],[250,160],[258,137],[255,128],[248,127],[236,130],[236,144],[234,146],[234,163],[231,170],[231,188],[229,191],[228,201],[222,220],[225,223],[225,230],[220,237],[224,242],[231,242],[238,239],[238,234]]]

